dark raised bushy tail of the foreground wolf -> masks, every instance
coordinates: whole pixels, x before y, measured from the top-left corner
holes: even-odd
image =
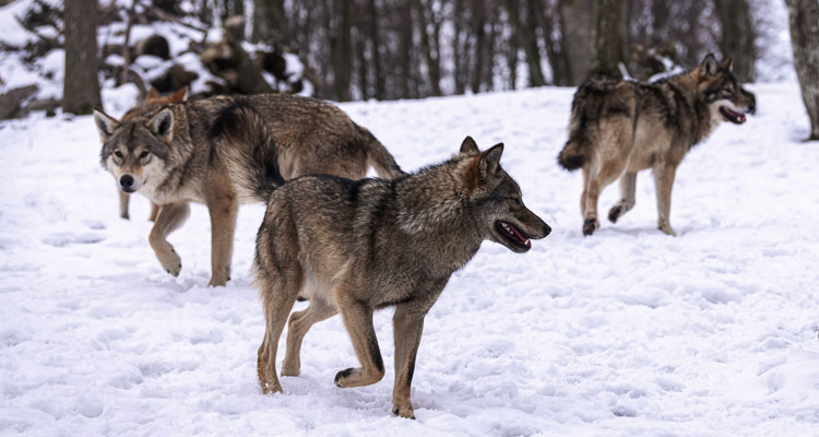
[[[222,154],[234,181],[251,198],[266,202],[284,184],[278,150],[261,114],[244,101],[223,109],[211,125],[211,153]]]

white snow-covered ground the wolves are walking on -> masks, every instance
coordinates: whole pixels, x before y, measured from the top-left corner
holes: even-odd
[[[205,286],[210,222],[194,206],[170,238],[175,279],[149,247],[147,201],[118,217],[90,117],[0,125],[0,434],[816,436],[819,144],[799,141],[795,84],[752,90],[758,116],[680,166],[677,238],[655,229],[648,174],[632,212],[581,236],[580,175],[555,161],[571,90],[343,105],[407,169],[466,134],[505,142],[505,168],[554,227],[526,255],[486,243],[452,276],[426,319],[417,421],[390,414],[391,310],[376,316],[381,382],[333,385],[356,364],[336,317],[308,334],[286,393],[260,393],[261,205],[240,212],[221,288]],[[601,210],[616,199],[612,186]]]

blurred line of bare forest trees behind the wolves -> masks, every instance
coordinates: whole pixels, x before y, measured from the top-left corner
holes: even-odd
[[[198,0],[309,61],[322,98],[394,99],[648,79],[709,51],[753,79],[749,0]],[[204,16],[203,16],[204,17]]]

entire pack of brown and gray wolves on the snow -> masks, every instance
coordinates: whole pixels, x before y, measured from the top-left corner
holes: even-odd
[[[752,93],[713,55],[687,72],[655,82],[595,78],[571,104],[568,141],[557,157],[582,170],[582,234],[600,228],[597,199],[619,178],[620,200],[608,220],[634,206],[637,173],[651,169],[657,228],[670,225],[677,166],[723,121],[741,125],[756,110]],[[264,393],[283,392],[276,371],[287,326],[282,376],[300,371],[309,329],[341,314],[358,365],[339,371],[341,388],[381,380],[372,316],[394,308],[392,412],[414,418],[410,399],[424,317],[450,276],[484,240],[523,253],[551,228],[523,202],[500,165],[503,144],[482,151],[466,137],[449,160],[405,173],[366,128],[336,106],[292,95],[187,99],[151,93],[117,120],[94,111],[102,166],[115,178],[120,216],[129,196],[151,201],[149,243],[159,264],[178,275],[168,243],[202,203],[211,218],[211,280],[230,279],[239,205],[263,202],[253,261],[264,311],[257,370]],[[369,168],[378,178],[366,178]],[[290,310],[297,299],[306,309]]]

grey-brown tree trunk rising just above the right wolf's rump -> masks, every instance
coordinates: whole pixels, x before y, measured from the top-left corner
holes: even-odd
[[[560,0],[561,47],[566,54],[568,82],[579,85],[591,72],[593,59],[594,0]]]

